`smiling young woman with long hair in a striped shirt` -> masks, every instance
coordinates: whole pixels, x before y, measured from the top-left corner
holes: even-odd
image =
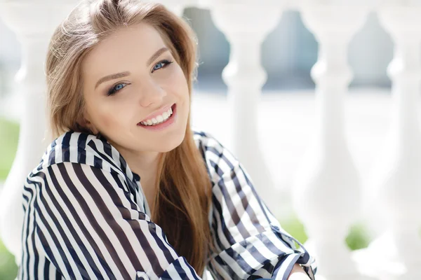
[[[159,4],[83,1],[56,29],[57,138],[25,182],[18,279],[314,279],[241,163],[192,132],[195,71],[192,30]]]

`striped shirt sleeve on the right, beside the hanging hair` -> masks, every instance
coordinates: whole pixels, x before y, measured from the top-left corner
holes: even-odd
[[[281,228],[241,163],[215,139],[205,149],[213,181],[210,228],[216,251],[208,264],[213,277],[286,280],[298,263],[314,280],[314,258]]]

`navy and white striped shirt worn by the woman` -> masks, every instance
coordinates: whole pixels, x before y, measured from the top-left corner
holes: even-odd
[[[287,279],[316,265],[285,232],[241,163],[194,132],[212,184],[214,279]],[[65,132],[28,176],[17,279],[201,279],[150,217],[140,176],[104,137]]]

